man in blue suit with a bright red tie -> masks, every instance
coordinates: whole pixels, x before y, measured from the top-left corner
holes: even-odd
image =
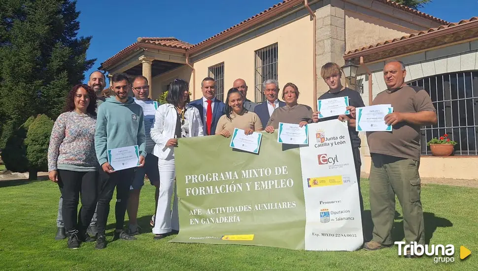
[[[214,135],[219,118],[225,114],[226,104],[216,99],[216,82],[206,77],[201,82],[203,98],[194,100],[189,105],[198,108],[203,121],[204,135]]]

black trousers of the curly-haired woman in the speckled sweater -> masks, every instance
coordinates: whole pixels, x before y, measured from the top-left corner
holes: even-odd
[[[72,171],[58,169],[58,186],[63,197],[63,223],[65,230],[86,232],[95,213],[98,171]],[[78,199],[81,195],[81,208]]]

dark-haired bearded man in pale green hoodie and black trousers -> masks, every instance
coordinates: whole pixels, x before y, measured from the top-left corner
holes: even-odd
[[[146,136],[144,134],[143,109],[128,96],[130,83],[124,73],[114,74],[111,79],[115,97],[105,99],[98,108],[95,149],[100,169],[98,191],[98,235],[96,248],[106,247],[104,228],[109,214],[109,202],[116,187],[116,230],[113,239],[135,240],[124,228],[130,186],[136,168],[115,171],[108,163],[107,150],[135,146],[139,147],[139,166],[144,166]]]

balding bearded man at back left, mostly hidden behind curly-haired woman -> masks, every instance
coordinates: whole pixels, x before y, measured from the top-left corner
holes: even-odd
[[[96,112],[98,112],[98,107],[102,102],[104,102],[104,97],[102,95],[102,90],[104,86],[106,85],[105,81],[105,76],[104,74],[97,70],[93,71],[90,74],[90,78],[88,80],[88,86],[90,86],[96,94],[97,98],[97,105],[96,105]],[[58,203],[58,215],[57,215],[57,234],[55,236],[55,240],[62,240],[67,237],[65,233],[65,228],[63,226],[63,213],[62,213],[62,207],[63,207],[63,197],[60,197],[60,201]],[[90,227],[88,227],[88,234],[92,237],[95,237],[98,230],[96,226],[97,222],[97,213],[95,209],[95,214],[93,215],[93,218],[91,219]]]

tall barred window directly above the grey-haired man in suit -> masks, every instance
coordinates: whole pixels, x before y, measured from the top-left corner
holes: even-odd
[[[266,101],[263,83],[268,79],[277,80],[277,43],[255,51],[255,102]]]

